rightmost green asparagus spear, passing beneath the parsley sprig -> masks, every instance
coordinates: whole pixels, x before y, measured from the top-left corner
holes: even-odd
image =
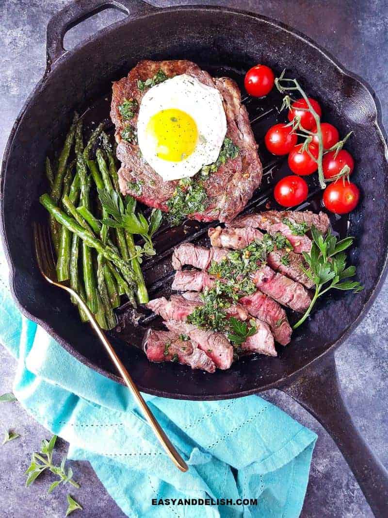
[[[103,142],[103,146],[104,146],[105,151],[108,156],[109,173],[110,173],[110,176],[112,177],[114,188],[117,191],[117,193],[120,195],[120,186],[118,185],[118,175],[117,175],[116,164],[114,162],[114,157],[113,157],[112,149],[111,149],[109,138],[108,138],[107,134],[102,135],[102,142]],[[101,155],[99,155],[98,151],[97,151],[96,156],[97,156],[99,165],[101,162],[100,170],[102,168],[102,170],[105,171],[106,164],[105,164],[105,160],[103,160],[102,153],[101,153]],[[100,160],[99,160],[99,156],[100,156]],[[101,174],[102,174],[102,170],[101,170]],[[107,186],[106,186],[106,189],[107,189]],[[136,255],[135,241],[133,240],[132,234],[130,234],[128,231],[123,231],[123,229],[117,228],[117,231],[119,231],[119,230],[122,231],[121,236],[125,238],[125,242],[126,242],[126,246],[125,247],[123,246],[123,251],[125,252],[125,250],[126,250],[127,255],[130,255],[133,257],[133,259],[131,260],[131,265],[133,268],[133,272],[135,272],[135,277],[136,277],[136,284],[137,284],[136,296],[137,296],[138,302],[139,302],[139,304],[146,304],[150,300],[150,298],[148,297],[147,287],[144,282],[143,272],[141,271],[140,263],[139,263],[137,257],[135,257],[135,255]],[[117,237],[118,237],[118,235],[117,235]],[[117,241],[118,241],[118,239],[117,239]],[[118,246],[119,246],[120,250],[122,250],[122,248],[120,246],[120,242],[118,242]],[[123,251],[122,251],[122,255],[123,255]],[[124,255],[123,255],[123,257],[124,257]]]

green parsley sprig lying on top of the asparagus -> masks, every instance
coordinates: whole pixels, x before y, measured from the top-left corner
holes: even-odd
[[[99,189],[98,196],[103,208],[110,215],[109,218],[101,222],[109,227],[125,228],[130,234],[138,234],[144,239],[144,246],[136,246],[136,257],[139,263],[142,262],[142,255],[155,255],[152,236],[155,234],[162,222],[162,213],[159,209],[154,209],[148,222],[143,214],[135,212],[136,199],[128,197],[127,205],[124,207],[123,200],[115,191]],[[133,257],[131,257],[133,259]]]

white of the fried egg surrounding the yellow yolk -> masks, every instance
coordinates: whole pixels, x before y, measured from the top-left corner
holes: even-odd
[[[151,117],[161,110],[176,108],[189,114],[198,128],[195,150],[181,162],[170,162],[157,156],[155,140],[147,134]],[[144,95],[138,117],[138,142],[144,160],[163,180],[194,176],[204,165],[218,158],[227,132],[222,97],[216,88],[208,87],[187,74],[167,79]]]

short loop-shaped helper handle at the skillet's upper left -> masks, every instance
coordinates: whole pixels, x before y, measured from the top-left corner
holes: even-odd
[[[158,8],[148,4],[146,0],[77,0],[58,11],[47,26],[47,68],[50,69],[66,50],[63,38],[66,32],[83,20],[96,15],[105,9],[118,9],[131,18],[143,16]]]

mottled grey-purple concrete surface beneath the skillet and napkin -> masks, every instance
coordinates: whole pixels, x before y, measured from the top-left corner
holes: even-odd
[[[185,4],[159,0],[159,6]],[[364,77],[380,96],[385,127],[388,127],[388,3],[352,0],[219,0],[196,4],[219,4],[246,8],[278,19],[304,32],[337,56],[346,68]],[[41,78],[45,57],[46,26],[50,16],[67,4],[67,0],[0,0],[0,149],[4,148],[14,119],[27,95]],[[66,38],[71,46],[109,22],[122,17],[117,11],[106,11]],[[336,354],[342,392],[353,419],[385,466],[388,466],[388,416],[386,387],[388,380],[388,283],[383,286],[364,321]],[[0,347],[0,394],[9,392],[16,363]],[[319,436],[311,466],[310,481],[302,516],[305,518],[359,518],[372,513],[333,440],[306,411],[278,391],[264,397],[315,430]],[[47,479],[24,488],[23,471],[32,451],[37,450],[44,430],[18,403],[4,404],[0,411],[0,431],[13,428],[21,438],[0,448],[0,516],[19,518],[25,515],[41,518],[64,516],[66,489],[57,488],[47,495]],[[60,443],[58,454],[67,450]],[[74,496],[84,506],[83,516],[120,517],[123,513],[106,493],[91,467],[71,463],[74,478],[82,487]],[[79,513],[81,515],[81,513]],[[157,515],[157,512],[155,512]],[[388,515],[388,510],[387,510]],[[74,514],[75,516],[75,514]]]

